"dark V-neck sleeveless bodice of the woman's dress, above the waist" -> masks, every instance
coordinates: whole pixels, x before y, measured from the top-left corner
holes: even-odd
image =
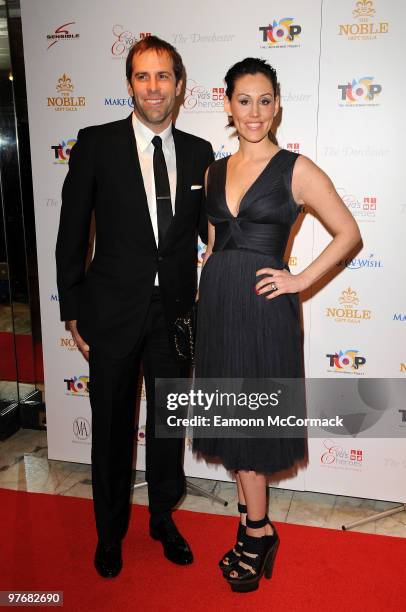
[[[226,201],[228,157],[209,169],[206,211],[215,226],[213,251],[247,249],[282,259],[301,206],[292,195],[293,166],[298,157],[280,149],[245,192],[237,216]]]

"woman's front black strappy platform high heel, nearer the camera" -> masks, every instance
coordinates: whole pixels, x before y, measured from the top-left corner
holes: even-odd
[[[271,536],[255,538],[247,534],[245,535],[241,558],[226,576],[232,591],[241,593],[255,591],[263,574],[265,578],[272,577],[275,557],[279,547],[279,536],[275,526],[267,516],[260,521],[251,521],[247,517],[247,527],[251,529],[259,529],[267,524],[273,528]],[[231,576],[234,572],[235,576]]]

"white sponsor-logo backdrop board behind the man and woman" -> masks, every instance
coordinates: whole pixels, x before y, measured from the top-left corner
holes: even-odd
[[[339,262],[332,280],[303,302],[306,376],[370,378],[384,390],[388,379],[406,377],[401,0],[258,0],[255,9],[242,0],[199,6],[186,0],[22,0],[22,19],[51,459],[89,463],[91,447],[87,364],[59,321],[54,251],[61,187],[78,130],[131,113],[125,58],[133,42],[149,34],[181,53],[187,82],[177,125],[209,140],[217,159],[237,149],[225,128],[227,69],[247,56],[277,69],[279,145],[329,174],[363,236],[362,250]],[[330,239],[311,214],[301,215],[295,229],[293,273]],[[347,435],[331,438],[326,430],[310,439],[307,469],[279,486],[406,501],[406,410],[399,402],[391,407],[398,437],[366,437],[390,401],[385,393],[380,408],[359,397],[339,398],[342,411],[354,413]],[[142,395],[140,468],[144,438]],[[189,449],[185,468],[189,476],[229,478],[222,468],[197,462]]]

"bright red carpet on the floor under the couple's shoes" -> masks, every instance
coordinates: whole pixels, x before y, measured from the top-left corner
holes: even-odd
[[[92,565],[92,503],[0,489],[0,590],[61,590],[64,610],[230,612],[399,612],[406,602],[406,539],[279,523],[272,580],[255,593],[232,593],[217,569],[236,520],[178,511],[195,563],[172,565],[147,535],[147,509],[134,506],[118,578]]]

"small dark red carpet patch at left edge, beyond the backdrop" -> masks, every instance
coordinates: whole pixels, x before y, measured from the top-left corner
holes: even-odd
[[[33,363],[31,334],[16,334],[16,346],[11,332],[0,332],[0,380],[16,380],[16,364],[14,351],[17,350],[21,383],[44,382],[42,364],[42,345],[35,344],[35,364]]]

